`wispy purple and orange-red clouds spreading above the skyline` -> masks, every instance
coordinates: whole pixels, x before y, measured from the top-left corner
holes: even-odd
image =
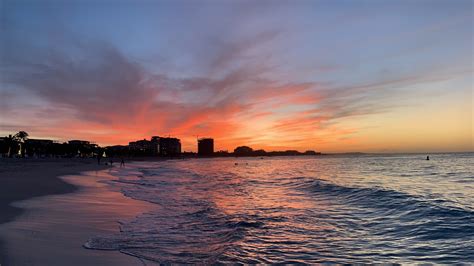
[[[222,48],[228,54],[220,54],[211,67],[226,66],[259,41],[266,41],[266,37],[256,37],[238,49],[238,44],[231,45],[232,49]],[[379,97],[400,84],[427,79],[409,76],[337,88],[318,82],[263,78],[266,68],[254,71],[254,65],[231,68],[221,78],[176,78],[148,72],[111,44],[82,44],[76,49],[79,56],[75,57],[58,51],[39,51],[37,57],[29,54],[28,58],[10,58],[2,65],[4,82],[49,104],[47,109],[30,110],[33,113],[29,115],[47,120],[48,114],[54,114],[57,126],[69,129],[67,134],[81,138],[90,138],[90,134],[95,141],[107,144],[170,134],[184,138],[189,146],[192,136],[207,135],[229,143],[243,138],[271,147],[252,139],[265,139],[273,134],[290,147],[317,139],[318,131],[328,130],[327,126],[337,119],[389,111],[391,107],[383,106]],[[14,93],[9,91],[8,95],[11,94]],[[248,132],[253,123],[260,123],[264,131]],[[68,136],[56,130],[43,134]],[[354,132],[332,130],[339,138]],[[232,148],[225,143],[221,146]]]

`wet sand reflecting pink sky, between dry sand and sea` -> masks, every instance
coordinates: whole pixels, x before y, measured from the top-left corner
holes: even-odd
[[[52,165],[65,167],[58,162]],[[85,165],[88,166],[76,166],[80,174],[55,177],[74,187],[74,193],[49,194],[12,204],[22,209],[22,214],[0,225],[0,241],[4,243],[3,251],[0,250],[1,265],[152,264],[118,250],[94,250],[83,246],[89,238],[118,233],[119,221],[134,219],[154,208],[148,202],[126,197],[120,189],[110,185],[110,181],[116,179],[111,174],[114,168]]]

